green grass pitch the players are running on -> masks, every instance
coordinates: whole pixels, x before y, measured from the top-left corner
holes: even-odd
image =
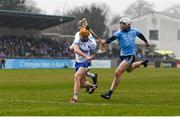
[[[100,97],[115,69],[93,69],[99,88],[81,89],[73,105],[73,69],[0,70],[0,115],[180,115],[180,69],[140,68],[125,73],[110,100]]]

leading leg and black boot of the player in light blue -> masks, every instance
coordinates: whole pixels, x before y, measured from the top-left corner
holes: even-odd
[[[115,91],[115,89],[118,87],[119,82],[120,82],[120,77],[121,75],[130,67],[130,64],[126,61],[123,60],[120,65],[118,66],[118,68],[115,71],[115,77],[113,79],[112,85],[110,90],[105,93],[102,94],[101,97],[105,98],[105,99],[110,99],[111,94]]]

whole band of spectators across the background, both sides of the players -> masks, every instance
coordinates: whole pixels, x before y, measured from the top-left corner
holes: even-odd
[[[1,36],[0,51],[6,58],[74,58],[74,54],[68,50],[72,41],[67,39],[52,40],[50,38],[33,38],[25,36]],[[112,50],[96,56],[96,59],[119,59],[119,48],[113,46]],[[163,56],[166,57],[166,56]],[[162,59],[162,56],[153,53],[153,50],[137,49],[136,59],[150,61]],[[164,60],[169,60],[166,57]]]

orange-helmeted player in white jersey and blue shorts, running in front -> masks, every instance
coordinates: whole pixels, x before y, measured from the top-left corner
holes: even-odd
[[[89,38],[89,34],[86,28],[81,28],[79,38],[74,40],[76,73],[74,75],[74,93],[71,103],[77,103],[80,88],[90,87],[89,94],[92,94],[97,88],[97,84],[91,84],[86,79],[88,67],[94,58],[94,56],[91,55],[91,51],[95,51],[97,45],[93,38]]]

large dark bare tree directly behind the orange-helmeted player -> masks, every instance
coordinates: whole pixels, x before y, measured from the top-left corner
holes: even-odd
[[[61,32],[61,34],[75,34],[75,32],[78,31],[78,20],[85,17],[87,18],[90,27],[97,33],[97,35],[101,36],[107,31],[107,13],[108,7],[105,4],[92,4],[90,7],[76,7],[64,13],[64,15],[67,16],[74,16],[75,20],[67,24],[59,25],[58,30]]]

